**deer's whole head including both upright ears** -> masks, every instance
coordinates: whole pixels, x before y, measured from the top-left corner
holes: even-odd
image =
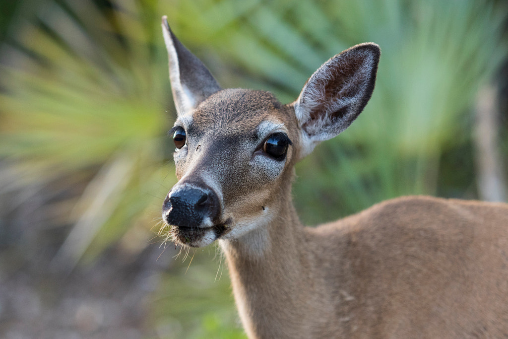
[[[354,46],[329,59],[298,99],[221,89],[163,17],[178,119],[171,130],[178,183],[163,205],[175,241],[205,246],[268,227],[289,201],[292,167],[348,126],[374,89],[379,47]]]

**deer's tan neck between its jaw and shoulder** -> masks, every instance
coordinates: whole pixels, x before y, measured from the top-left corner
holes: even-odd
[[[292,325],[305,313],[315,316],[315,290],[320,288],[305,229],[291,201],[278,213],[265,227],[221,241],[249,337],[304,337],[299,326]]]

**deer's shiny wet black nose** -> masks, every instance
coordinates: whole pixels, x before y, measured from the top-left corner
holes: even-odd
[[[169,225],[179,227],[210,227],[218,217],[215,193],[208,188],[183,186],[173,188],[164,200],[162,215]],[[209,218],[210,222],[203,224]]]

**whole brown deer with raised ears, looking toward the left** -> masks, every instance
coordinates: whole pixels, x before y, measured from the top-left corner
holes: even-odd
[[[249,338],[508,337],[508,205],[407,196],[303,226],[295,163],[350,126],[380,48],[326,61],[299,97],[223,89],[162,20],[177,118],[163,228],[215,241]]]

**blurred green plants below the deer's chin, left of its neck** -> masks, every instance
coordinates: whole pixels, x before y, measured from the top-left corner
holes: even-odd
[[[148,324],[161,337],[245,338],[224,263],[205,252],[178,263],[153,293]]]

